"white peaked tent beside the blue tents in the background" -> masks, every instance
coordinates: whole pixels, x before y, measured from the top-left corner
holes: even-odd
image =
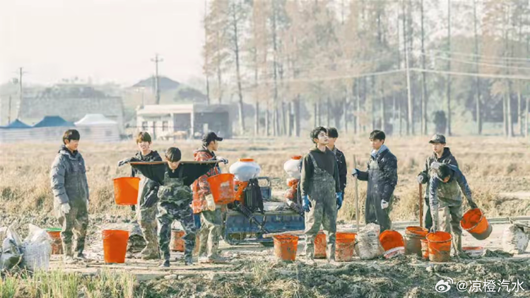
[[[82,141],[90,142],[118,142],[120,129],[118,122],[106,118],[102,114],[86,114],[74,123],[81,134]]]

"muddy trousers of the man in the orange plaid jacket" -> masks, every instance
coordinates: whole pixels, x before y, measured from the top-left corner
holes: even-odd
[[[200,214],[199,256],[216,257],[223,217],[221,209],[202,211]]]

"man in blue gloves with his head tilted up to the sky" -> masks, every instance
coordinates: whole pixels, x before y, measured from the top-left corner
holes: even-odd
[[[337,211],[342,206],[337,160],[328,145],[328,132],[323,127],[311,131],[315,147],[302,160],[302,209],[305,215],[305,258],[314,264],[314,243],[320,226],[326,234],[326,258],[335,260]]]

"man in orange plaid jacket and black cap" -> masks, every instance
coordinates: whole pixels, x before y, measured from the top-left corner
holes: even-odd
[[[217,159],[227,164],[227,159],[215,156],[215,151],[219,148],[220,141],[223,141],[223,138],[217,137],[215,132],[205,134],[202,137],[202,147],[193,152],[195,160]],[[220,173],[220,168],[217,165],[193,183],[193,213],[200,216],[199,263],[218,263],[223,261],[218,255],[223,214],[221,206],[214,203],[214,197],[211,194],[210,184],[208,183],[208,177]]]

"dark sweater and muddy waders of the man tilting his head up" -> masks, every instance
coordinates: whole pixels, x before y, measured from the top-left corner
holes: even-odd
[[[317,163],[315,156],[319,154],[321,161],[329,160],[331,166],[329,164],[326,166],[333,169],[332,173]],[[302,175],[301,185],[306,187],[305,189],[302,187],[302,193],[308,195],[312,205],[310,211],[305,214],[306,258],[313,259],[315,237],[322,225],[326,235],[326,257],[334,260],[335,233],[337,232],[337,196],[335,194],[340,192],[337,161],[329,149],[322,152],[315,148],[304,157],[302,173],[305,174]]]

